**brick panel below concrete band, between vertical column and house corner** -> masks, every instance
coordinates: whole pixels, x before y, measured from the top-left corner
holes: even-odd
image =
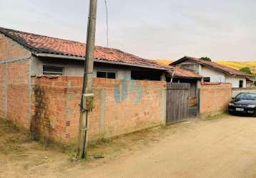
[[[7,63],[7,118],[30,128],[29,60]]]

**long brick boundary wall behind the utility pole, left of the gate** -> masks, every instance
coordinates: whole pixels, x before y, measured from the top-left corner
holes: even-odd
[[[166,83],[94,78],[95,108],[89,139],[113,137],[160,125],[165,119]],[[34,78],[34,117],[39,135],[74,141],[79,127],[82,78]]]

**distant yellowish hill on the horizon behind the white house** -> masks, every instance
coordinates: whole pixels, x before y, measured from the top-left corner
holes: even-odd
[[[158,63],[163,63],[166,65],[169,65],[169,63],[174,62],[175,60],[171,59],[157,59],[156,60]],[[256,61],[215,61],[216,63],[220,63],[224,66],[228,66],[230,68],[235,68],[237,70],[240,70],[241,68],[248,67],[252,71],[253,74],[256,75]]]

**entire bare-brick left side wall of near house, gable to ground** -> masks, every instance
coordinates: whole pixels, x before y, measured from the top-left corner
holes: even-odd
[[[29,129],[30,52],[0,34],[0,117]]]

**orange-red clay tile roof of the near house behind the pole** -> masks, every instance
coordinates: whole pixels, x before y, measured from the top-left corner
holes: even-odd
[[[33,53],[47,53],[74,57],[85,56],[85,44],[77,41],[41,36],[7,28],[0,28],[0,33],[4,33],[6,36],[12,38],[22,46],[25,46]],[[155,61],[139,58],[138,56],[134,56],[114,48],[96,46],[94,58],[99,61],[102,60],[124,63],[127,65],[132,64],[143,68],[158,68],[161,70],[167,70],[164,68],[164,66]]]

